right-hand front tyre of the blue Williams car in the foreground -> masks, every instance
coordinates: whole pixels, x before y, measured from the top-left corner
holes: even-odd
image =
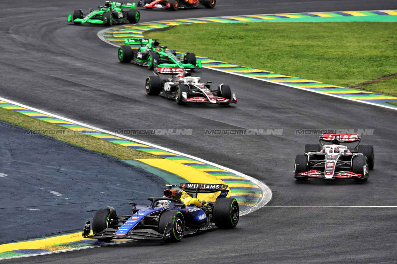
[[[167,224],[171,224],[171,230],[166,230]],[[160,234],[166,233],[164,241],[166,242],[179,242],[185,234],[185,219],[181,212],[176,210],[165,211],[160,215],[158,221],[158,232]]]

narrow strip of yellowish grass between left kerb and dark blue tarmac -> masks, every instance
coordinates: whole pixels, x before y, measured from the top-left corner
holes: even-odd
[[[89,150],[118,158],[119,160],[161,158],[160,156],[152,155],[140,150],[135,150],[133,148],[127,148],[113,142],[108,142],[103,139],[92,137],[90,135],[85,135],[71,129],[66,129],[64,127],[61,127],[60,125],[48,123],[1,107],[0,120],[30,130],[64,129],[66,132],[64,133],[64,135],[50,135],[48,133],[43,134],[49,137],[53,137],[54,139],[58,139],[60,141],[69,142],[76,146],[81,146]]]

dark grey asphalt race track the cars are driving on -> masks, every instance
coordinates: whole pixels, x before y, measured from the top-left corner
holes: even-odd
[[[397,205],[395,110],[207,69],[197,70],[196,75],[214,85],[229,84],[237,95],[237,105],[179,106],[161,97],[150,97],[144,91],[145,77],[150,72],[137,65],[118,63],[117,48],[96,36],[102,26],[66,23],[74,9],[87,11],[100,4],[93,0],[35,4],[27,0],[2,1],[0,96],[110,131],[193,129],[192,136],[134,137],[255,177],[268,184],[273,198],[268,207],[241,217],[233,230],[185,237],[177,244],[131,241],[2,263],[397,262],[395,207],[321,207]],[[384,9],[397,9],[397,2],[219,0],[212,10],[141,10],[141,22]],[[240,128],[283,129],[283,135],[204,135],[205,129]],[[374,129],[373,135],[363,136],[362,141],[373,144],[376,152],[368,182],[294,180],[295,155],[303,152],[305,143],[318,139],[317,135],[295,135],[297,129]],[[275,207],[293,205],[309,207]],[[31,220],[25,228],[39,221]],[[77,228],[85,220],[76,216]]]

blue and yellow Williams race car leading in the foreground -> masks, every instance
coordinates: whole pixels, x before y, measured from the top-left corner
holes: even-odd
[[[148,239],[178,242],[185,234],[195,234],[214,227],[234,228],[239,222],[239,204],[226,198],[224,184],[181,183],[166,185],[162,197],[150,197],[149,206],[133,206],[133,215],[117,215],[113,207],[96,211],[92,222],[87,221],[83,237],[101,241],[112,239]],[[216,201],[197,199],[197,194],[220,192]],[[195,194],[196,198],[193,198]]]

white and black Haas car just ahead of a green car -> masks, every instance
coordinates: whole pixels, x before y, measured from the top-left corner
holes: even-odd
[[[161,79],[156,73],[176,73],[173,78]],[[191,76],[190,72],[175,68],[157,68],[155,76],[146,78],[146,93],[175,99],[177,104],[210,103],[237,104],[236,95],[231,92],[229,85],[220,84],[218,89],[210,89],[210,83],[201,83],[200,77]]]

